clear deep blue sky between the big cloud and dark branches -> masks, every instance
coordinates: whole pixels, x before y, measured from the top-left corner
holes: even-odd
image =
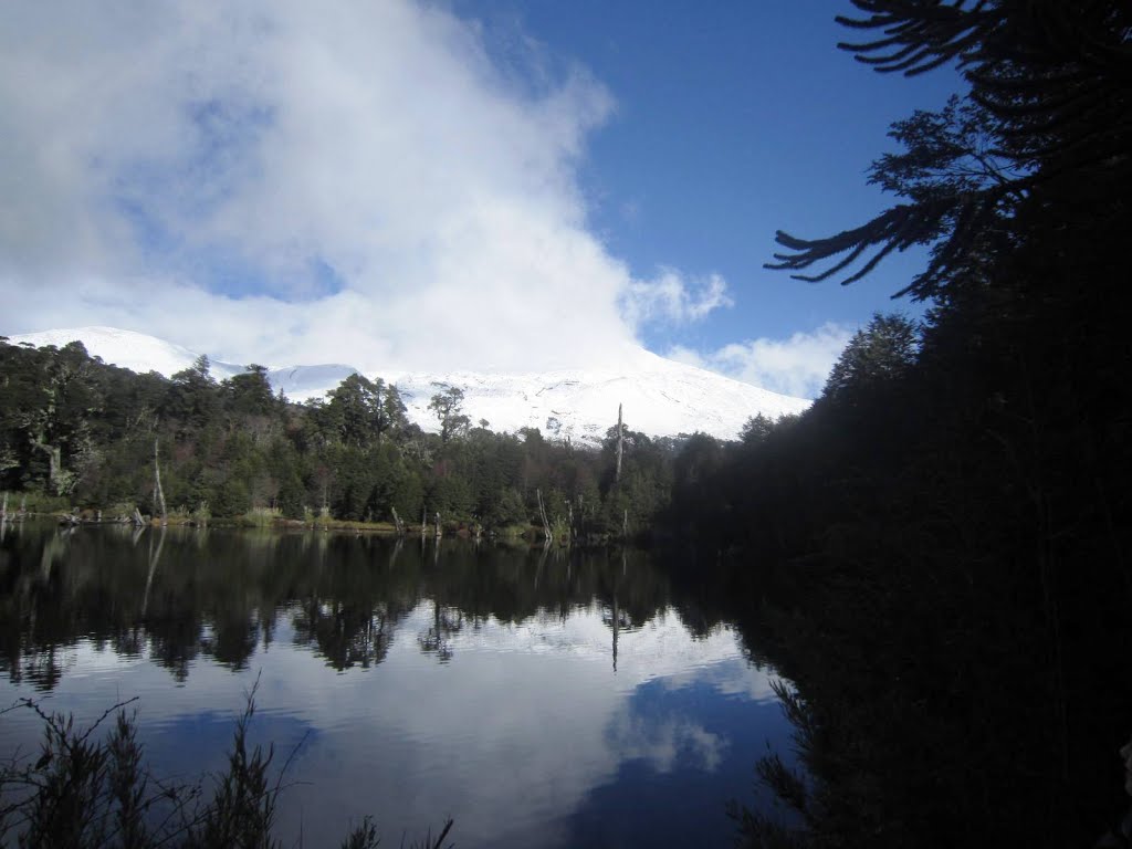
[[[857,325],[874,310],[916,312],[890,295],[923,255],[897,257],[852,286],[806,284],[763,269],[773,234],[825,235],[890,203],[867,186],[892,121],[942,105],[958,75],[876,74],[835,49],[848,2],[463,0],[506,54],[525,34],[559,62],[578,61],[609,86],[617,110],[592,136],[583,183],[593,223],[637,274],[674,265],[718,273],[732,309],[693,332],[652,327],[657,350],[781,337],[825,321]]]

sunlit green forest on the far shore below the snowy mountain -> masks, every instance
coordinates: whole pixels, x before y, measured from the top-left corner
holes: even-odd
[[[379,378],[352,375],[325,400],[294,404],[255,365],[216,381],[200,358],[166,379],[108,366],[78,342],[0,340],[0,490],[12,509],[31,497],[29,509],[108,518],[135,507],[194,523],[431,524],[439,514],[473,532],[533,522],[560,542],[637,535],[667,500],[678,439],[625,426],[618,437],[614,424],[592,451],[535,429],[496,434],[473,426],[448,386],[430,409],[439,432],[410,423]]]

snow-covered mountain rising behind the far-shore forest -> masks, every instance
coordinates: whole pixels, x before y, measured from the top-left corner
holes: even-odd
[[[104,362],[139,372],[158,371],[166,377],[188,368],[198,357],[154,336],[113,327],[76,327],[10,337],[14,344],[27,342],[35,346],[62,346],[76,340]],[[217,379],[242,370],[233,363],[212,363]],[[324,397],[355,371],[345,365],[269,367],[267,377],[276,392],[306,401]],[[624,404],[626,426],[650,436],[701,431],[732,439],[752,415],[778,418],[801,412],[811,403],[666,360],[641,348],[626,349],[620,362],[601,369],[538,374],[387,371],[367,377],[396,384],[410,419],[426,430],[438,429],[428,409],[429,400],[453,386],[463,391],[464,412],[473,422],[487,420],[492,430],[539,428],[550,438],[569,437],[590,445],[600,443],[616,423],[618,404]]]

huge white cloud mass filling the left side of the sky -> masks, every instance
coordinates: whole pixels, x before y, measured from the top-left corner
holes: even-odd
[[[576,170],[612,97],[523,61],[410,0],[7,10],[0,332],[547,368],[728,305],[718,276],[634,281],[591,234]]]

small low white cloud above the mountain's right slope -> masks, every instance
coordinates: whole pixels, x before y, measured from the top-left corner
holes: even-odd
[[[816,331],[795,333],[789,338],[736,342],[706,353],[678,345],[668,357],[764,389],[814,398],[821,394],[830,369],[850,336],[850,328],[826,323]]]

